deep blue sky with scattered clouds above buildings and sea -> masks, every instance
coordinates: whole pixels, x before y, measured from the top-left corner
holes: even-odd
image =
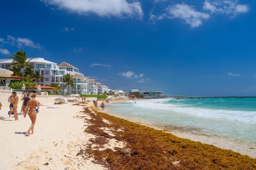
[[[110,89],[256,96],[256,0],[4,0],[0,58],[18,50]]]

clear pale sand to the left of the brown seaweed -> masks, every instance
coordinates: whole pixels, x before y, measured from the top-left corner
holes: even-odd
[[[18,121],[7,114],[8,106],[0,110],[1,153],[0,169],[2,170],[49,170],[49,169],[105,169],[92,163],[93,159],[83,155],[76,156],[85,150],[92,134],[85,134],[86,122],[79,116],[86,116],[82,106],[44,104],[37,114],[34,134],[25,136],[31,120],[27,115],[18,115]],[[54,108],[47,108],[54,107]],[[59,107],[59,108],[55,108]],[[18,106],[18,113],[21,106]]]

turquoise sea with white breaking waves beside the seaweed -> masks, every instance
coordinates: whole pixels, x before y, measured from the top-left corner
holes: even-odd
[[[112,101],[107,113],[170,132],[215,137],[256,150],[256,98]],[[223,141],[223,140],[220,140]]]

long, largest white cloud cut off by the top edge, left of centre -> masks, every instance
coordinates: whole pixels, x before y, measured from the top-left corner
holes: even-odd
[[[99,16],[135,16],[142,18],[143,10],[140,2],[128,3],[126,0],[41,0],[47,5],[57,6],[69,12],[81,15],[96,13]]]

